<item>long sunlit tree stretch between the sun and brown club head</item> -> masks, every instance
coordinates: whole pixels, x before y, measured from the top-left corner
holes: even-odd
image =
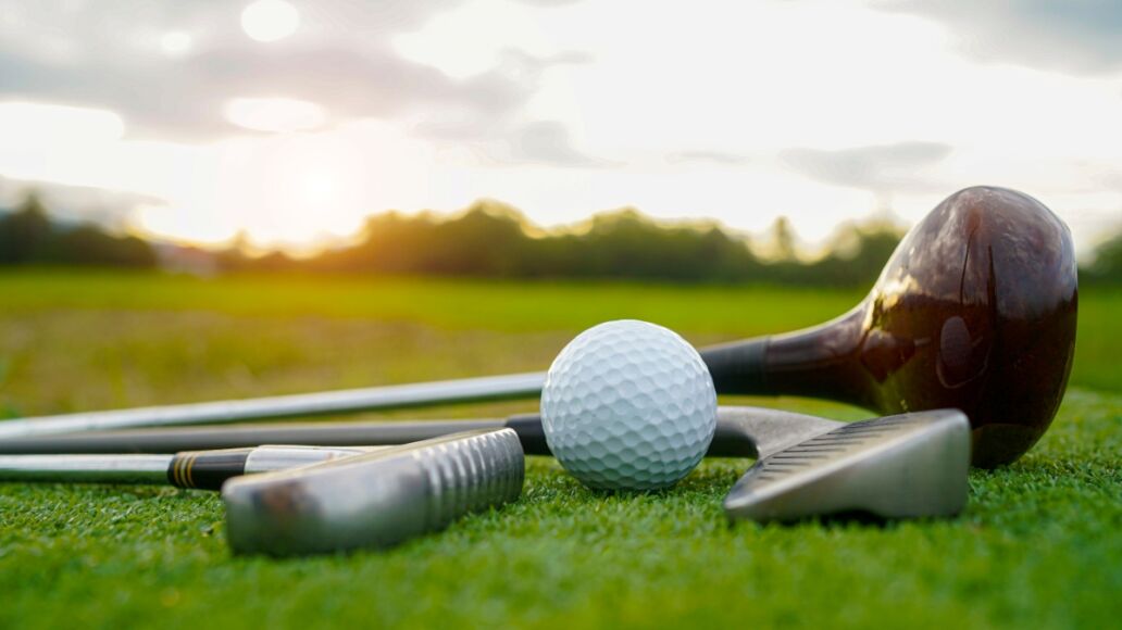
[[[781,237],[793,240],[785,220]],[[540,232],[516,210],[477,202],[458,216],[387,212],[370,216],[356,244],[311,259],[282,253],[223,254],[237,270],[368,271],[488,278],[626,278],[679,282],[859,285],[876,279],[900,240],[888,225],[852,225],[849,247],[806,262],[785,250],[763,259],[749,241],[714,223],[662,224],[635,210],[594,216],[569,230]],[[783,247],[779,248],[783,250]]]

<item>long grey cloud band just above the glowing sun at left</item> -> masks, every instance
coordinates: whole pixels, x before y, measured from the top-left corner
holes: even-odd
[[[498,73],[456,82],[384,50],[355,54],[316,47],[255,55],[232,47],[200,54],[175,68],[92,63],[47,67],[0,53],[0,93],[110,109],[141,133],[208,139],[231,131],[222,111],[237,98],[300,99],[323,105],[338,121],[433,108],[503,115],[524,103],[532,90]]]

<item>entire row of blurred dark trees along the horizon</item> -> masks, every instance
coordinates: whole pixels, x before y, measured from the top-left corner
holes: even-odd
[[[771,252],[762,257],[747,238],[716,223],[663,224],[622,210],[571,229],[541,231],[515,209],[480,201],[456,216],[371,215],[353,244],[312,258],[278,251],[251,256],[239,244],[201,256],[227,272],[867,286],[901,235],[899,228],[883,222],[846,224],[825,256],[806,261],[795,254],[794,232],[782,217],[771,230]],[[0,266],[155,268],[166,262],[159,245],[137,237],[113,235],[93,224],[53,222],[35,195],[13,211],[0,210]],[[1080,276],[1084,281],[1122,284],[1122,234],[1100,247]]]

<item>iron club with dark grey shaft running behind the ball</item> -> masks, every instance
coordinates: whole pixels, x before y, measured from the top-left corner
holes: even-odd
[[[526,454],[549,455],[537,416],[505,420],[311,423],[155,428],[24,438],[24,447],[159,450],[316,442],[399,444],[441,434],[505,428]],[[4,446],[19,445],[21,441]],[[708,456],[756,457],[726,499],[730,518],[790,520],[864,511],[882,518],[947,516],[966,500],[966,417],[934,410],[858,423],[754,407],[720,407]]]

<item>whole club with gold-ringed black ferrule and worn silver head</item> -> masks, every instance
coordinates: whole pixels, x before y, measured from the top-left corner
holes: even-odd
[[[0,481],[221,488],[230,548],[273,556],[395,545],[517,499],[524,475],[505,428],[383,447],[0,456]]]

